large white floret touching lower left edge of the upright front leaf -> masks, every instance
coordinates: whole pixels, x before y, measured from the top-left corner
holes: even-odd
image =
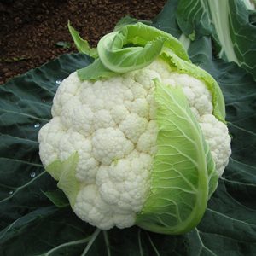
[[[96,177],[102,199],[125,211],[140,211],[149,189],[151,165],[150,154],[135,150],[111,166],[102,166]]]

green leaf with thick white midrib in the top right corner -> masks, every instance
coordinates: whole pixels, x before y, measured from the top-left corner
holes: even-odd
[[[249,22],[253,11],[242,0],[181,0],[177,23],[189,36],[211,36],[218,56],[235,61],[256,79],[256,27]]]

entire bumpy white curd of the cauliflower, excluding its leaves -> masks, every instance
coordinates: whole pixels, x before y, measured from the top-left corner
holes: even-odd
[[[219,176],[228,163],[230,136],[212,115],[212,96],[202,81],[172,72],[160,60],[95,83],[72,73],[56,92],[53,119],[39,132],[39,153],[48,166],[78,152],[80,190],[73,211],[102,230],[133,225],[147,199],[157,151],[155,78],[183,88]]]

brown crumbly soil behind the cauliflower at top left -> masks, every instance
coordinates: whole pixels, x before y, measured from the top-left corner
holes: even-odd
[[[77,51],[71,21],[96,46],[125,15],[152,20],[166,0],[0,0],[0,84],[58,55]]]

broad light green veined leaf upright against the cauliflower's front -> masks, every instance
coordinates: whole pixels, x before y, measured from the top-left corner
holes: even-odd
[[[200,222],[218,177],[182,89],[158,81],[155,84],[158,152],[154,156],[150,193],[136,223],[145,230],[182,234]],[[208,175],[214,177],[211,192]]]

